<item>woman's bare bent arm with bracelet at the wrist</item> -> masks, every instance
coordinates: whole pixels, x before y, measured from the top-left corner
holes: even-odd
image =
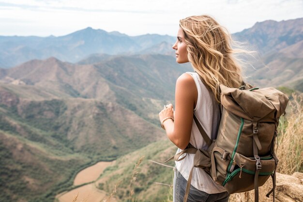
[[[182,74],[176,83],[176,108],[173,113],[173,106],[167,105],[159,113],[160,122],[166,117],[164,122],[167,137],[180,149],[185,149],[189,143],[193,124],[194,107],[197,103],[197,87],[194,79],[189,74]]]

